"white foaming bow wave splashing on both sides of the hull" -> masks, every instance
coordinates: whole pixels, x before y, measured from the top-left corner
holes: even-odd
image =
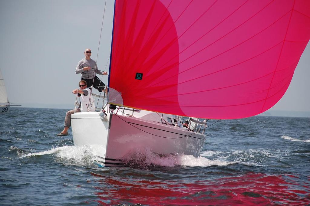
[[[47,151],[33,152],[29,154],[21,154],[20,158],[27,158],[31,156],[44,156],[54,155],[56,161],[60,161],[64,164],[78,165],[78,166],[91,166],[96,167],[94,163],[98,161],[98,147],[96,146],[62,146],[55,147]],[[205,157],[194,157],[192,155],[158,155],[154,154],[150,149],[138,149],[132,153],[129,153],[124,158],[125,165],[128,167],[134,167],[139,169],[148,168],[149,166],[198,166],[208,167],[212,165],[226,166],[228,164],[234,164],[234,162],[224,160],[209,160]]]

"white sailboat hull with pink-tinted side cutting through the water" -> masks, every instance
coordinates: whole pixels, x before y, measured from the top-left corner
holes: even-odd
[[[74,145],[96,146],[98,164],[121,166],[138,149],[152,152],[199,156],[206,136],[184,128],[136,117],[107,114],[102,121],[99,112],[71,115]]]

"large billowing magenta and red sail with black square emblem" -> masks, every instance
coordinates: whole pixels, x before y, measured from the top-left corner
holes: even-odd
[[[308,0],[117,0],[109,86],[128,107],[254,116],[281,99],[309,38]]]

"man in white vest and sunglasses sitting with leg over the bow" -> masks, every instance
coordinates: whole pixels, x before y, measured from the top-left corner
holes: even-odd
[[[64,119],[64,130],[57,134],[57,136],[68,135],[68,129],[71,126],[71,115],[75,112],[95,112],[94,98],[91,96],[91,90],[87,88],[87,83],[84,80],[79,82],[80,89],[72,91],[73,94],[81,94],[81,102],[77,109],[72,109],[66,113]]]

